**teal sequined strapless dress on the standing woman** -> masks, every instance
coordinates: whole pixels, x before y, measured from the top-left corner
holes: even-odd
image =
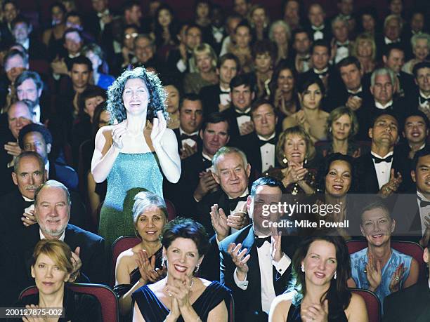
[[[119,236],[134,235],[134,196],[150,191],[163,197],[163,176],[155,153],[119,153],[107,176],[107,193],[100,211],[98,234],[107,249]]]

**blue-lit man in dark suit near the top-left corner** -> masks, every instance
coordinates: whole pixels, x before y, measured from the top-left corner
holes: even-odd
[[[30,36],[33,27],[30,21],[23,16],[18,16],[12,22],[12,33],[15,41],[20,43],[28,53],[30,60],[46,60],[46,47],[37,37]]]

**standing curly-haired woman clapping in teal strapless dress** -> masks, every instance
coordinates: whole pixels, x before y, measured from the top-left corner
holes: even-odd
[[[96,182],[107,178],[98,233],[110,246],[134,232],[131,209],[123,209],[127,192],[143,188],[162,197],[163,175],[178,182],[181,160],[176,136],[164,119],[166,93],[156,74],[143,67],[127,70],[110,86],[107,98],[113,125],[98,130],[91,173]]]

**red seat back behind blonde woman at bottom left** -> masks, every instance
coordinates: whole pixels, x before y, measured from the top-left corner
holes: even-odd
[[[118,300],[117,296],[107,286],[100,284],[68,284],[67,288],[70,288],[75,293],[83,293],[93,295],[100,302],[101,313],[103,322],[118,322]],[[36,286],[30,286],[23,290],[20,294],[20,299],[27,295],[39,293]]]

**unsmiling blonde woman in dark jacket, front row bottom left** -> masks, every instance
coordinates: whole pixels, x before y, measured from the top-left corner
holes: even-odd
[[[72,250],[64,241],[42,239],[36,244],[32,256],[31,272],[38,293],[22,297],[14,307],[51,309],[63,307],[61,315],[67,321],[102,322],[100,303],[93,295],[74,293],[67,281],[74,271]],[[58,314],[60,315],[60,314]],[[24,321],[46,319],[46,314],[29,314]],[[7,321],[21,321],[19,318]]]

